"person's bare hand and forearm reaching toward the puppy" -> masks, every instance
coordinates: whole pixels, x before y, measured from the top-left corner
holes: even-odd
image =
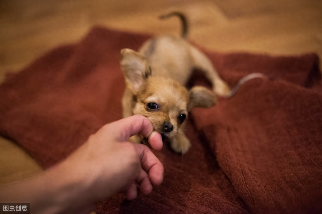
[[[134,115],[106,124],[69,157],[41,174],[0,188],[1,202],[30,202],[32,213],[90,213],[95,203],[122,192],[128,200],[151,193],[163,180],[163,165],[143,144],[162,148],[150,121]],[[139,190],[139,191],[138,191]]]

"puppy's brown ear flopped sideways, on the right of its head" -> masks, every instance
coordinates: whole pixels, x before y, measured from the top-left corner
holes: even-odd
[[[213,107],[217,98],[215,94],[202,86],[194,86],[189,91],[190,101],[188,109],[192,109],[194,107],[203,107],[210,108]]]

